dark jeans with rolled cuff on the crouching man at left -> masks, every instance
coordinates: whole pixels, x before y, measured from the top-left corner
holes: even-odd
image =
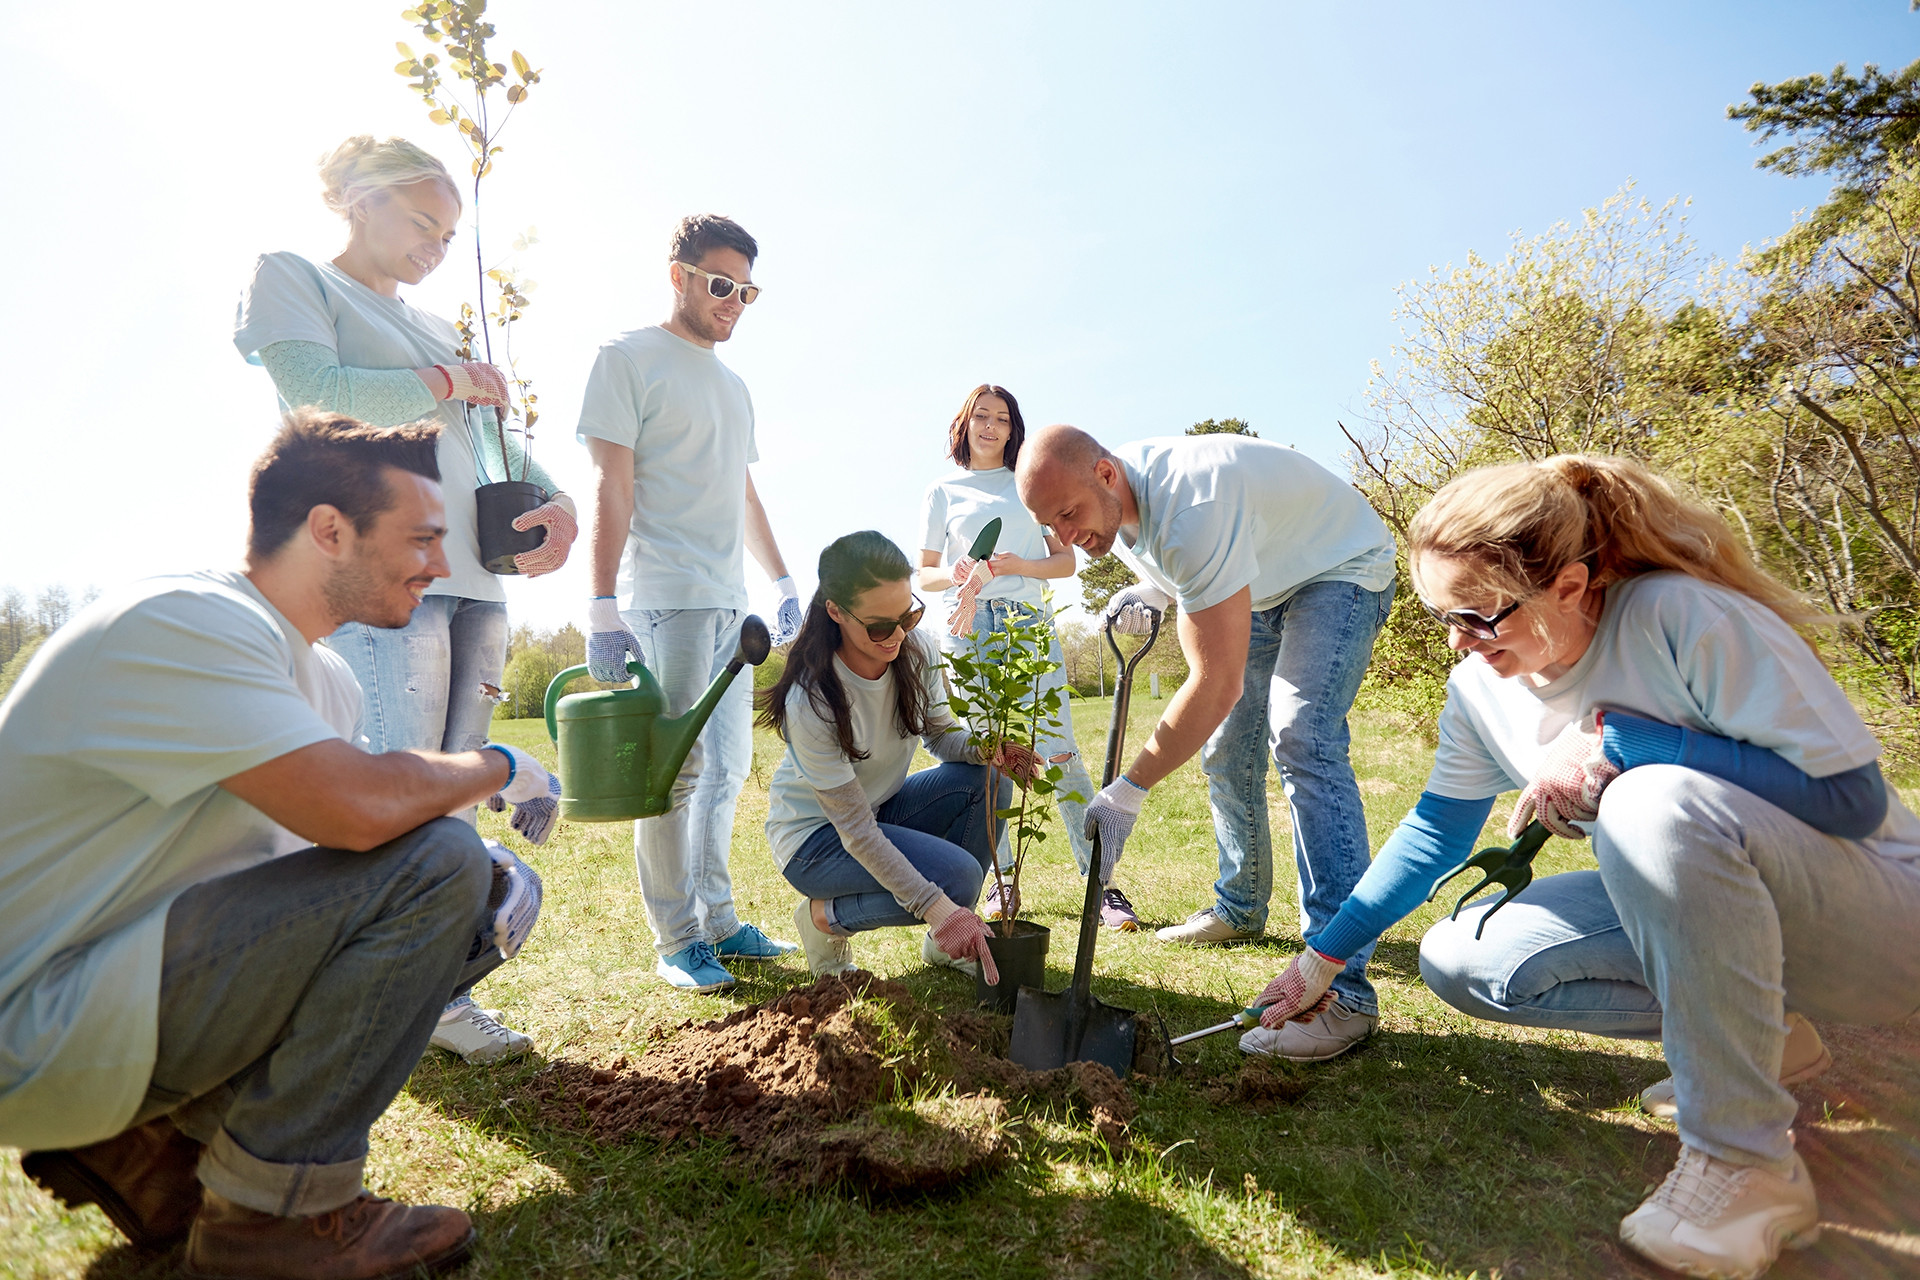
[[[367,1130],[407,1082],[480,950],[492,862],[436,818],[380,848],[307,848],[194,885],[167,910],[144,1125],[205,1142],[200,1182],[276,1215],[361,1194]]]

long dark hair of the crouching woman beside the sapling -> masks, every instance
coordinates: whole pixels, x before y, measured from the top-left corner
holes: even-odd
[[[787,651],[787,668],[780,679],[755,695],[760,727],[772,729],[781,739],[787,737],[787,693],[799,685],[806,691],[814,714],[833,722],[833,737],[841,754],[849,760],[866,760],[866,752],[852,741],[847,687],[841,685],[839,672],[833,670],[841,629],[833,622],[833,614],[828,612],[828,601],[851,612],[851,601],[868,587],[877,587],[883,581],[906,581],[910,574],[906,553],[895,547],[885,533],[874,530],[837,537],[820,553],[820,587],[806,604],[801,633]],[[900,737],[920,737],[927,731],[927,654],[914,643],[912,635],[906,635],[899,656],[889,666],[893,670],[895,727]]]

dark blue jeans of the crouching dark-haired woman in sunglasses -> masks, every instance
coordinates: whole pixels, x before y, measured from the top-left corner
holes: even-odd
[[[1000,779],[1002,808],[1012,787]],[[993,823],[993,831],[987,825],[985,766],[941,764],[910,773],[874,816],[893,846],[943,894],[960,906],[979,902],[996,827],[1002,825]],[[920,923],[872,871],[854,862],[833,823],[822,823],[806,837],[781,873],[808,898],[824,898],[828,921],[841,933]]]

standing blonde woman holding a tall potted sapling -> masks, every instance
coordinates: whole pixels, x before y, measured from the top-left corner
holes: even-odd
[[[234,345],[267,368],[282,409],[317,405],[374,426],[444,422],[438,462],[451,574],[417,585],[422,599],[405,628],[349,622],[326,645],[359,679],[361,747],[474,750],[488,739],[507,662],[507,593],[480,564],[474,489],[511,472],[553,493],[515,520],[522,532],[545,528],[545,541],[515,558],[530,578],[566,562],[578,533],[574,503],[511,434],[501,457],[493,426],[507,405],[501,370],[461,363],[453,324],[399,296],[432,274],[453,242],[461,192],[447,169],[405,138],[363,134],[321,161],[321,182],[326,207],[348,221],[348,246],[324,263],[261,255],[240,299]],[[551,804],[515,814],[515,827],[536,844],[551,821]],[[484,1061],[520,1054],[530,1040],[461,998],[447,1006],[434,1044]]]

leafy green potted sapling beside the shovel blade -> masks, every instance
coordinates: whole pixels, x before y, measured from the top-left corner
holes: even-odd
[[[948,706],[956,720],[968,725],[983,760],[993,760],[1000,743],[1018,743],[1037,752],[1043,741],[1060,733],[1060,702],[1064,691],[1044,679],[1060,670],[1052,656],[1054,631],[1041,612],[1010,610],[998,629],[975,631],[966,647],[947,654]],[[1066,756],[1041,760],[1043,770],[1025,785],[1016,781],[1012,804],[995,806],[1000,771],[987,766],[987,806],[1006,821],[1012,867],[1002,869],[993,860],[993,879],[1000,887],[1000,902],[1018,908],[1020,875],[1027,858],[1046,839],[1046,823],[1060,800],[1085,800],[1079,793],[1062,793],[1060,779]],[[975,975],[981,1004],[1002,1013],[1014,1011],[1021,986],[1044,986],[1046,948],[1052,931],[1031,919],[1020,919],[1018,910],[991,923],[987,948],[1000,971],[998,983]]]

